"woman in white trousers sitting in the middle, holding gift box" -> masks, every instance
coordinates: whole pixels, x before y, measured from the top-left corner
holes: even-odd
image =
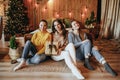
[[[61,20],[56,19],[52,23],[53,42],[58,42],[58,51],[56,56],[51,56],[53,60],[65,60],[67,66],[78,79],[84,79],[77,68],[75,48],[72,43],[68,44],[68,32]]]

